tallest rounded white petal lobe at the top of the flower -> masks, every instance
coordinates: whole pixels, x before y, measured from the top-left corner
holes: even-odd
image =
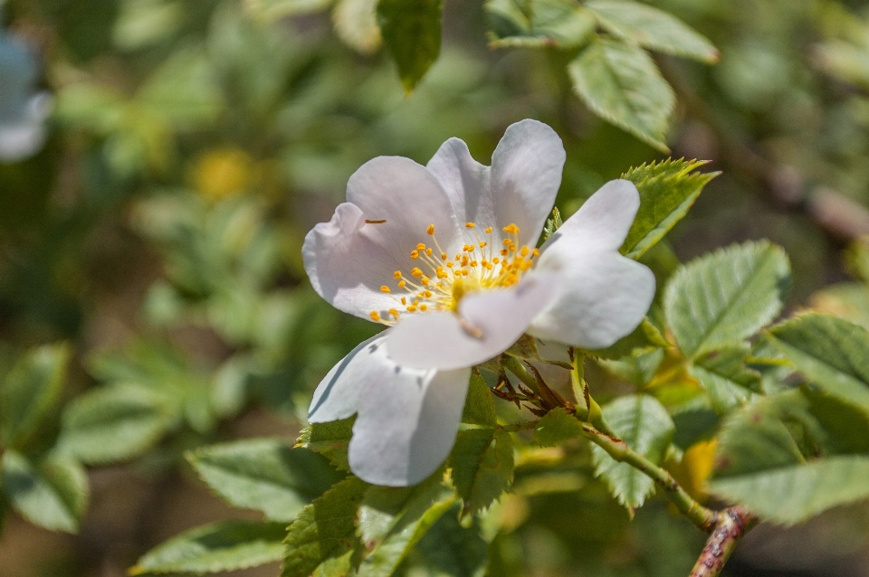
[[[495,220],[515,222],[520,245],[534,247],[555,203],[565,152],[555,130],[537,120],[511,125],[492,154]]]

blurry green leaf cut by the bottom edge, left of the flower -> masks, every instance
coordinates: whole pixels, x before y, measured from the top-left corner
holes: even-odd
[[[282,523],[221,521],[202,525],[145,553],[129,573],[215,573],[256,567],[282,559],[286,534]]]

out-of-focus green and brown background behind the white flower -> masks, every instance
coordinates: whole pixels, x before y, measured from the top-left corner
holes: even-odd
[[[263,19],[267,4],[0,2],[0,102],[13,103],[0,109],[0,365],[34,345],[65,343],[72,355],[67,409],[37,449],[113,392],[149,387],[138,445],[107,438],[83,459],[91,497],[79,534],[7,515],[0,577],[120,576],[173,534],[244,516],[182,455],[294,438],[322,376],[377,332],[310,290],[300,254],[371,157],[425,164],[461,137],[488,164],[507,126],[538,118],[568,151],[565,216],[606,180],[665,157],[584,108],[563,54],[491,50],[481,1],[446,1],[441,57],[408,96],[376,29],[349,28],[355,16],[341,5]],[[656,57],[678,99],[673,156],[723,173],[673,231],[673,253],[684,261],[769,238],[792,260],[791,310],[869,323],[859,241],[869,233],[869,3],[649,4],[721,51],[711,67]],[[515,529],[492,574],[688,572],[702,535],[664,500],[629,524],[587,483],[578,497],[519,487],[501,504]],[[761,525],[726,574],[867,576],[867,535],[867,506],[788,530]]]

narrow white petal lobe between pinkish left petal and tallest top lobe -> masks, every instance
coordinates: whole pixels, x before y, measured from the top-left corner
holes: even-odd
[[[483,228],[501,230],[492,206],[492,170],[473,159],[463,140],[450,138],[444,142],[425,167],[444,187],[460,223],[475,222]],[[506,224],[510,222],[501,226]],[[495,240],[500,242],[501,237]]]

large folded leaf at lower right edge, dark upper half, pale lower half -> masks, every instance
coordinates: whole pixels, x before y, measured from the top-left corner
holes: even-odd
[[[847,428],[866,437],[869,425],[855,411],[823,402],[810,391],[791,390],[731,414],[719,436],[711,490],[784,525],[869,498],[869,456],[823,456],[831,449],[863,449],[865,439],[843,443],[833,436]],[[834,426],[826,429],[829,424]]]

